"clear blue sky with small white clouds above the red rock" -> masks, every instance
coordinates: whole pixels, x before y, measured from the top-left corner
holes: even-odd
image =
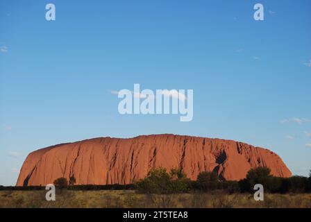
[[[56,21],[45,5],[54,3]],[[253,19],[262,3],[264,21]],[[37,148],[174,133],[311,169],[311,2],[1,1],[0,185]],[[112,90],[193,89],[194,119],[120,115]]]

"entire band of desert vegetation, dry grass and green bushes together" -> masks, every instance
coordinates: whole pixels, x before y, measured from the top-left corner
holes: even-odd
[[[180,169],[157,168],[132,185],[74,185],[58,178],[56,201],[44,187],[0,187],[0,207],[311,207],[310,177],[271,176],[266,167],[251,169],[239,181],[220,180],[204,171],[197,180]],[[253,185],[264,185],[264,201],[255,201]]]

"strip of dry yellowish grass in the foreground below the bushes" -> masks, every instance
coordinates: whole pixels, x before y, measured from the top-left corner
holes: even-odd
[[[46,191],[0,191],[0,207],[309,207],[311,194],[251,194],[221,191],[197,194],[137,194],[135,191],[62,191],[56,201],[45,200]]]

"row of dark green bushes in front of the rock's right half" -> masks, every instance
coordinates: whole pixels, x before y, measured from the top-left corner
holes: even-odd
[[[264,192],[271,194],[310,193],[311,173],[309,178],[292,176],[279,178],[271,175],[267,167],[251,169],[246,178],[239,181],[221,180],[217,173],[203,171],[195,181],[189,180],[180,169],[153,169],[146,178],[134,183],[135,189],[141,193],[178,194],[187,192],[209,192],[221,190],[228,194],[253,193],[255,184],[262,184]]]

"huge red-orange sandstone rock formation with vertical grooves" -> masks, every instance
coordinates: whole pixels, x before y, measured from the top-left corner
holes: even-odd
[[[17,186],[45,186],[70,176],[76,178],[76,185],[128,184],[160,166],[180,167],[192,180],[201,171],[239,180],[258,166],[269,167],[274,176],[292,175],[280,157],[265,148],[225,139],[147,135],[101,137],[34,151],[26,157]]]

